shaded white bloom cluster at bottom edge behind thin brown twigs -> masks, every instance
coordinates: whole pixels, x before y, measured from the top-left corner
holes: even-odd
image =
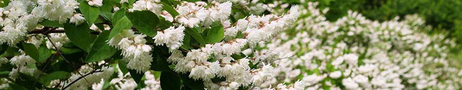
[[[93,68],[90,65],[84,65],[81,67],[79,72],[82,74],[87,74],[87,73],[92,73],[91,72],[92,70]],[[92,86],[92,84],[94,83],[100,82],[102,79],[104,80],[109,79],[109,77],[111,77],[112,74],[114,73],[114,68],[110,66],[109,67],[103,66],[101,68],[101,71],[102,72],[94,72],[88,76],[85,76],[85,79],[79,79],[78,81],[71,84],[66,89],[87,89],[87,87]],[[68,85],[70,82],[78,79],[79,77],[81,77],[81,75],[76,74],[76,73],[72,74],[72,76],[70,76],[70,78],[67,80],[68,82],[65,83],[63,86]]]

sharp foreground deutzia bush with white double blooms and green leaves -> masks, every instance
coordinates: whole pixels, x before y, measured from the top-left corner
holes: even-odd
[[[305,88],[265,85],[278,54],[257,51],[293,26],[296,5],[271,14],[259,1],[0,3],[0,89]]]

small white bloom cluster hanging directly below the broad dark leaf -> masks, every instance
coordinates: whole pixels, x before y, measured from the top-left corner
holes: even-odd
[[[183,26],[179,26],[178,28],[172,26],[165,30],[157,31],[157,35],[152,39],[155,39],[154,43],[157,46],[165,44],[169,48],[169,51],[172,52],[180,48],[183,44],[184,29]]]

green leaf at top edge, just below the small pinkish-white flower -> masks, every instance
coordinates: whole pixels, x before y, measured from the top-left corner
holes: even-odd
[[[95,22],[95,20],[98,19],[99,17],[98,8],[88,5],[87,2],[81,2],[79,8],[85,17],[85,20],[87,20],[88,25],[92,25],[93,22]]]

